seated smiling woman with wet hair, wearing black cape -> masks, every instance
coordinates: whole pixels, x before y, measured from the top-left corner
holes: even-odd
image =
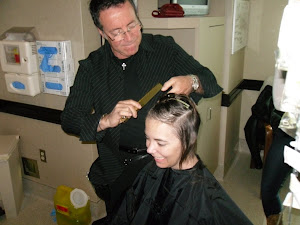
[[[199,126],[189,97],[167,94],[158,101],[145,128],[154,160],[139,173],[110,224],[252,224],[196,155]]]

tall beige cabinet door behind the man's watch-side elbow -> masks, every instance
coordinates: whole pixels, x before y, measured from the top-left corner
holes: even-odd
[[[222,84],[224,62],[224,22],[221,18],[200,20],[196,57]],[[202,99],[198,104],[201,116],[197,153],[204,164],[214,173],[219,159],[220,114],[222,94]]]

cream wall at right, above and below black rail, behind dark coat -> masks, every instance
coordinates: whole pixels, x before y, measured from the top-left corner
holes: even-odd
[[[266,80],[274,75],[275,54],[280,22],[287,0],[250,0],[248,44],[245,48],[244,79]],[[257,91],[243,91],[241,105],[240,138],[251,115]]]

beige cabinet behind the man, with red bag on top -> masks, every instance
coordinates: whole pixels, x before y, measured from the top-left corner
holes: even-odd
[[[144,33],[170,35],[222,84],[224,17],[141,18]],[[197,153],[213,173],[218,165],[221,94],[202,99]]]

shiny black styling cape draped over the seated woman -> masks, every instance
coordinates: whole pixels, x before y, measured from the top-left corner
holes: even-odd
[[[161,169],[150,162],[127,191],[110,224],[252,223],[199,160],[188,170]]]

